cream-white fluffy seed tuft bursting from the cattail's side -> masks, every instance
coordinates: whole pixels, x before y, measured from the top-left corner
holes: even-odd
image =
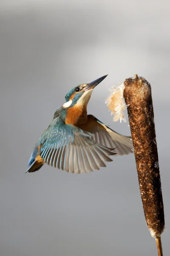
[[[122,122],[122,120],[126,122],[124,111],[127,109],[127,105],[123,97],[124,88],[124,84],[119,85],[119,87],[113,86],[110,89],[111,94],[106,99],[108,109],[111,111],[111,115],[114,116],[114,122],[117,122],[119,120],[120,122]]]

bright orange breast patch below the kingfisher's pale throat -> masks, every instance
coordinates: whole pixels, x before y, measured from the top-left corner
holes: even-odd
[[[68,108],[65,124],[71,124],[74,126],[83,125],[87,122],[87,108],[86,106],[74,105],[72,108]]]

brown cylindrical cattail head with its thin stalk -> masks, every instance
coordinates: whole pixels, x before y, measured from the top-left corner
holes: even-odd
[[[160,235],[164,230],[158,151],[150,84],[137,75],[126,79],[123,96],[127,108],[144,215],[151,236],[162,255]],[[161,253],[161,254],[160,254]]]

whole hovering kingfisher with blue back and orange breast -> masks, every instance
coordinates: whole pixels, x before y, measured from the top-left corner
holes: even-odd
[[[93,172],[113,161],[111,156],[133,152],[130,136],[87,114],[91,93],[106,76],[79,84],[66,94],[65,103],[36,143],[26,172],[38,171],[44,163],[71,173]]]

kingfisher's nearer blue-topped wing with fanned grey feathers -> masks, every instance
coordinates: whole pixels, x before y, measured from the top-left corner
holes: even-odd
[[[59,117],[53,119],[37,143],[40,157],[50,166],[72,173],[93,172],[109,155],[116,154],[93,140],[93,134],[73,125],[66,125]]]

